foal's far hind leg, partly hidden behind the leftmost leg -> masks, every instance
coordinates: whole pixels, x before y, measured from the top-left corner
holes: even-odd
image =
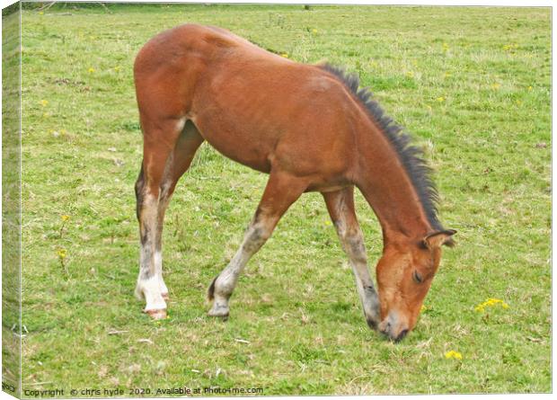
[[[155,270],[159,278],[161,295],[164,300],[168,300],[168,288],[163,279],[163,227],[164,214],[170,203],[172,193],[176,188],[176,183],[180,180],[195,156],[199,146],[203,143],[203,138],[199,134],[191,121],[187,121],[184,129],[181,131],[180,137],[176,142],[176,146],[172,150],[167,160],[166,172],[164,173],[164,181],[161,185],[161,193],[159,196],[157,229],[155,237]]]

